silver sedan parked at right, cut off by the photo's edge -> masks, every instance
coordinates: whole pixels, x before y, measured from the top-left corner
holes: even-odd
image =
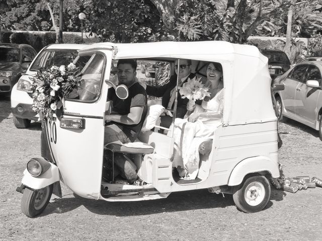
[[[322,140],[321,73],[321,61],[298,63],[274,80],[285,85],[285,89],[274,96],[280,121],[285,116],[294,119],[318,130]]]

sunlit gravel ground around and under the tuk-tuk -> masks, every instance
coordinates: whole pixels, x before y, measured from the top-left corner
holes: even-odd
[[[279,124],[279,160],[286,176],[322,178],[322,142],[299,123]],[[232,197],[207,190],[172,193],[166,199],[106,202],[75,197],[62,185],[42,215],[20,209],[26,161],[40,156],[40,124],[14,127],[10,98],[0,97],[0,240],[322,240],[322,188],[296,193],[272,188],[264,210],[246,214]]]

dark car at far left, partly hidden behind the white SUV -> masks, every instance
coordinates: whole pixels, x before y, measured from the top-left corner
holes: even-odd
[[[0,94],[9,94],[37,55],[28,44],[0,44]]]

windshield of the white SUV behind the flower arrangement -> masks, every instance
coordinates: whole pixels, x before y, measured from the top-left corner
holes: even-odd
[[[47,70],[51,66],[68,65],[77,56],[76,49],[47,49],[40,53],[30,67],[31,71]]]

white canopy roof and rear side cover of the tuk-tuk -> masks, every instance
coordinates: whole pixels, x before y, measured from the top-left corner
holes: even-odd
[[[113,59],[180,58],[219,62],[224,79],[224,125],[276,121],[268,59],[255,46],[224,41],[98,43],[79,53],[113,50]]]

